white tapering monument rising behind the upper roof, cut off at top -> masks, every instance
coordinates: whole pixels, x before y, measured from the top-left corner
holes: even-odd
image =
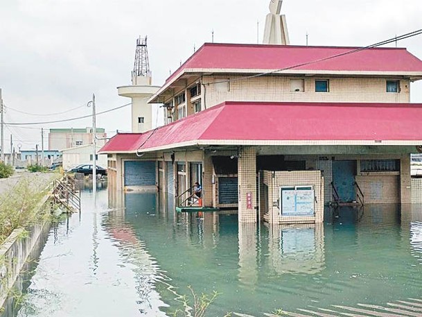
[[[270,1],[270,13],[265,20],[263,44],[288,45],[289,35],[285,15],[280,15],[283,0]]]

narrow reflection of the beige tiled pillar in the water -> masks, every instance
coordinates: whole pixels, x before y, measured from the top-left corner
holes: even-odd
[[[239,223],[239,282],[248,288],[258,282],[258,236],[255,223]]]

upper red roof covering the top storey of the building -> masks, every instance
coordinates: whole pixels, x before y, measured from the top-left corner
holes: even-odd
[[[170,76],[166,83],[186,69],[277,70],[294,67],[306,71],[353,72],[422,72],[422,61],[401,48],[364,49],[329,60],[315,62],[333,55],[348,53],[358,47],[290,46],[258,44],[215,44],[201,46]]]

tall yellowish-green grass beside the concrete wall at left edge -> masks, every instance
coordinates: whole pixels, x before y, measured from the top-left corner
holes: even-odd
[[[23,178],[15,187],[0,195],[0,243],[13,230],[39,223],[46,216],[44,212],[39,212],[39,203],[48,191],[48,183],[47,180]]]

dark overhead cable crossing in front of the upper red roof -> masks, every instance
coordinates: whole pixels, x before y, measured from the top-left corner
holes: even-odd
[[[413,32],[410,32],[410,33],[406,33],[406,34],[400,35],[398,37],[392,37],[391,39],[385,40],[383,42],[378,42],[376,44],[371,44],[371,45],[368,45],[368,46],[360,47],[358,49],[353,49],[351,51],[347,51],[347,52],[344,52],[344,53],[331,55],[331,56],[328,56],[326,58],[320,58],[318,60],[311,60],[309,62],[303,62],[303,63],[292,65],[292,66],[289,66],[289,67],[284,67],[284,68],[281,68],[281,69],[275,69],[273,71],[266,71],[266,72],[251,75],[251,76],[245,76],[245,77],[233,78],[233,79],[227,79],[227,80],[220,80],[220,81],[216,81],[216,82],[213,82],[213,83],[204,83],[203,85],[209,86],[209,85],[215,85],[215,84],[220,84],[220,83],[231,83],[231,82],[235,82],[235,81],[238,81],[238,80],[245,80],[245,79],[249,79],[249,78],[256,78],[256,77],[261,77],[261,76],[265,76],[265,75],[270,75],[270,74],[278,73],[280,71],[286,71],[286,70],[294,69],[294,68],[297,68],[297,67],[308,66],[308,65],[311,65],[311,64],[315,64],[317,62],[324,62],[326,60],[332,60],[333,58],[338,58],[338,57],[341,57],[341,56],[344,56],[344,55],[358,53],[360,51],[364,51],[364,50],[367,50],[367,49],[374,49],[378,46],[383,46],[385,44],[397,42],[397,41],[400,41],[400,40],[405,40],[409,37],[414,37],[416,35],[421,35],[421,34],[422,34],[422,29],[417,30],[417,31],[413,31]]]

